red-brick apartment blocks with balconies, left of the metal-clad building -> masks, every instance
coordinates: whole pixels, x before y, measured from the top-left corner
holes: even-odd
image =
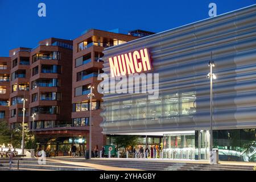
[[[0,57],[0,119],[11,129],[21,125],[25,98],[24,121],[44,150],[52,156],[68,155],[74,143],[82,153],[89,148],[88,86],[93,85],[92,147],[101,149],[106,144],[100,127],[102,95],[97,93],[102,51],[151,34],[90,29],[73,41],[49,38],[33,49],[11,49],[10,57]]]

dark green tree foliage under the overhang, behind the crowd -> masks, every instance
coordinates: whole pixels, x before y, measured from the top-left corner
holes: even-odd
[[[135,146],[138,144],[138,137],[133,135],[118,135],[115,137],[114,144],[117,148],[127,148],[129,146]]]

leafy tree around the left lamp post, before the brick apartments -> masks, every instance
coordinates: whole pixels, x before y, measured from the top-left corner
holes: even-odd
[[[21,148],[22,143],[22,126],[16,127],[13,130],[13,146],[15,148]],[[38,143],[36,142],[35,135],[33,135],[28,129],[27,123],[24,124],[24,148],[36,149]]]

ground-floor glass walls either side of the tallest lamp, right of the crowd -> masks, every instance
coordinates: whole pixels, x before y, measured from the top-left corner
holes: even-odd
[[[256,162],[255,129],[214,130],[213,148],[219,160]],[[209,159],[209,130],[164,134],[163,158]]]

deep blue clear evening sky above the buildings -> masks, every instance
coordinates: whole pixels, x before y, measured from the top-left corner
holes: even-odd
[[[38,16],[40,2],[46,3],[46,18]],[[256,0],[0,0],[0,56],[16,47],[33,48],[50,37],[74,39],[88,28],[168,30],[209,18],[210,2],[217,4],[219,15]]]

